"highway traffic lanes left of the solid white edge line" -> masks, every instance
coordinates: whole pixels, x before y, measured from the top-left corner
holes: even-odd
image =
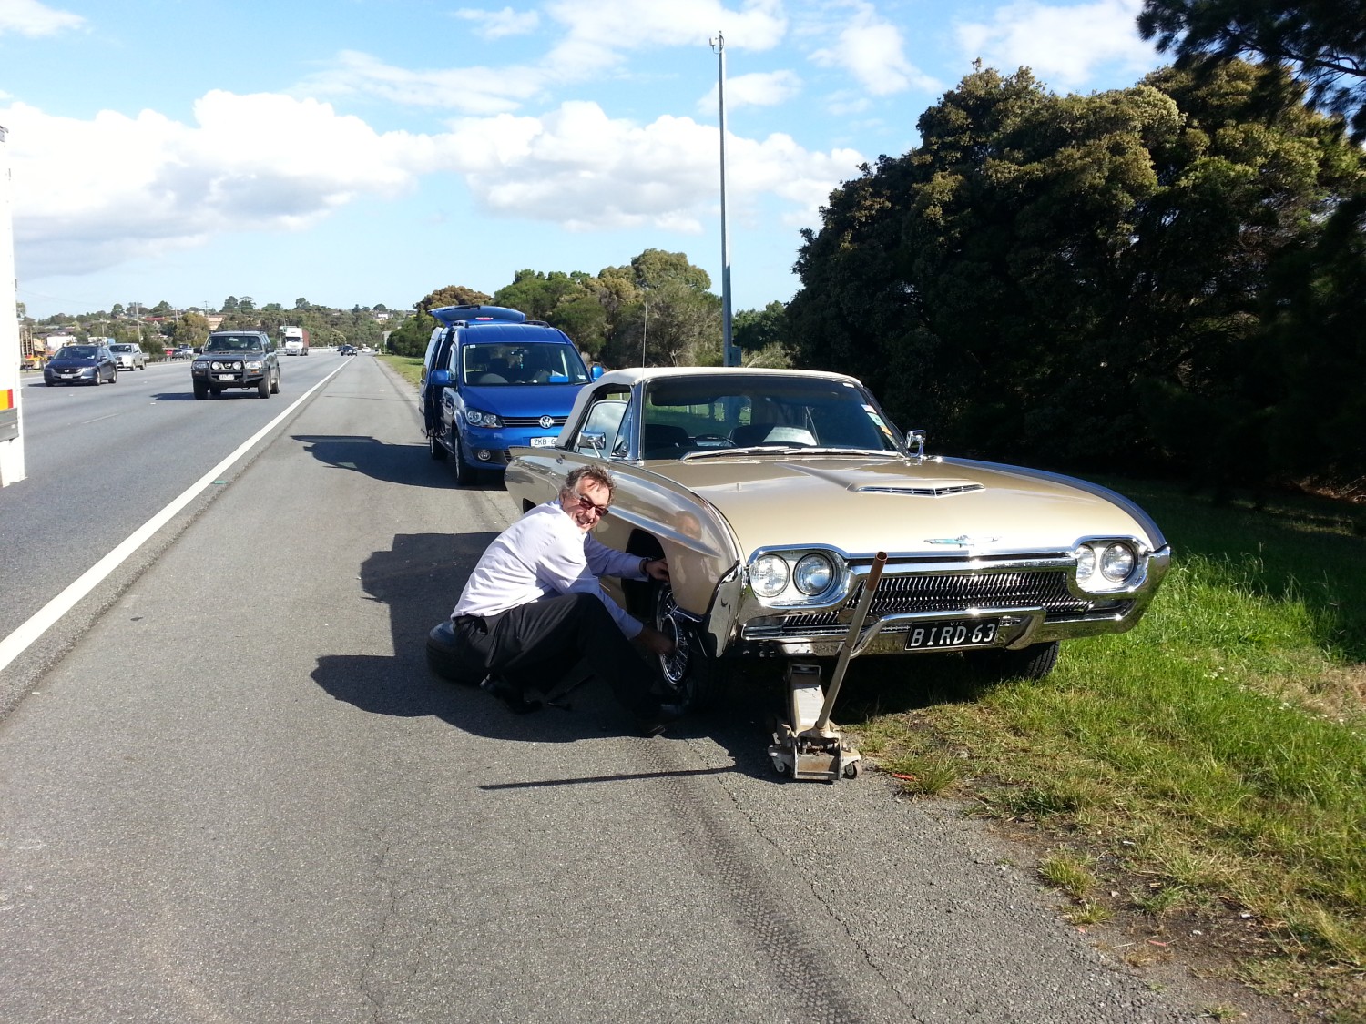
[[[41,375],[25,375],[27,474],[0,489],[0,638],[350,359],[316,352],[280,362],[281,393],[269,400],[254,392],[225,392],[195,401],[187,362],[123,371],[116,384],[98,388],[48,388]],[[172,535],[173,530],[163,541]],[[97,610],[98,603],[67,621],[66,629],[51,631],[42,638],[41,657],[0,672],[0,711]]]

